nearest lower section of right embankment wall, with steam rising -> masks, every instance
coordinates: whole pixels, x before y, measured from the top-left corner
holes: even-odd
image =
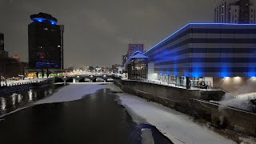
[[[214,126],[256,135],[256,114],[195,99],[190,103],[199,118],[206,119]]]

